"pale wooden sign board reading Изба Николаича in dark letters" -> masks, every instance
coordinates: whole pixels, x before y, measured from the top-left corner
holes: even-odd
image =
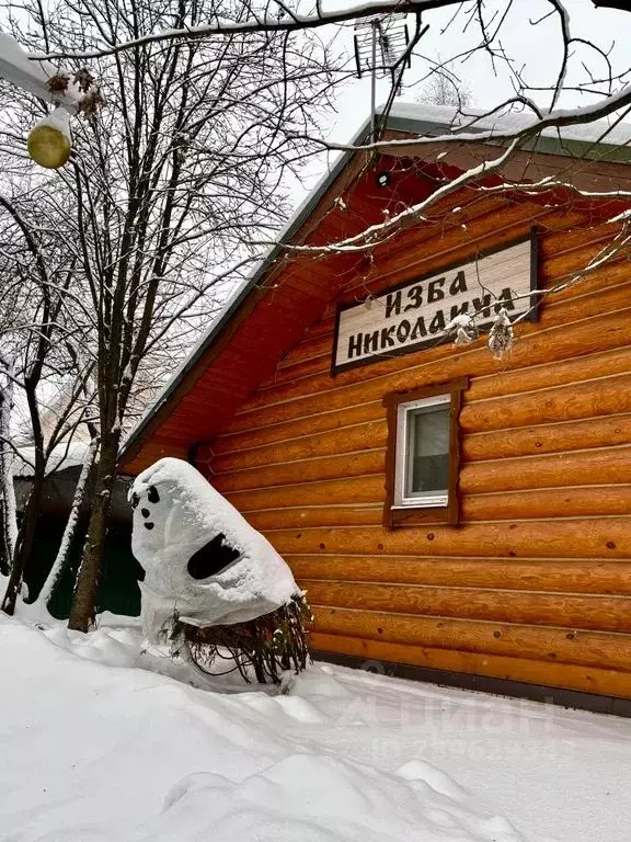
[[[537,241],[521,242],[469,263],[392,287],[362,304],[337,309],[332,373],[452,340],[448,326],[471,316],[489,329],[504,307],[513,321],[537,318]]]

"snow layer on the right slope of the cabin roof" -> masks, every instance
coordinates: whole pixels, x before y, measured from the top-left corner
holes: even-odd
[[[536,122],[536,117],[527,112],[489,114],[480,109],[467,109],[466,113],[460,113],[459,109],[451,105],[397,102],[390,110],[388,123],[394,124],[392,127],[395,128],[399,121],[421,124],[416,130],[427,135],[451,134],[462,127],[472,133],[492,132],[505,135],[527,128]],[[565,126],[562,129],[548,127],[541,134],[543,137],[555,139],[628,146],[631,143],[631,123],[618,123],[616,115],[612,115],[608,120]]]

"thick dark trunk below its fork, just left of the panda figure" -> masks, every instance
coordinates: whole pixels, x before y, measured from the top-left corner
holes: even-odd
[[[121,433],[116,432],[111,433],[101,442],[101,454],[96,464],[94,503],[68,621],[68,628],[74,628],[79,632],[88,632],[94,623],[103,551],[112,509],[112,492],[116,477],[119,439]]]

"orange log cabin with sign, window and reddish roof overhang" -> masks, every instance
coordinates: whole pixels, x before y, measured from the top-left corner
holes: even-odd
[[[386,136],[436,137],[447,111]],[[629,710],[629,201],[575,190],[630,190],[617,133],[540,138],[371,249],[275,249],[127,443],[124,473],[188,458],[268,537],[325,657]],[[285,242],[353,237],[500,149],[348,153]],[[519,319],[496,360],[500,306]]]

